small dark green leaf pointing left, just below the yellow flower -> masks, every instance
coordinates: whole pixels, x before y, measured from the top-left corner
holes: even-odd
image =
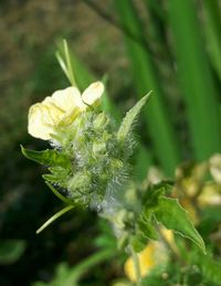
[[[21,146],[21,151],[28,159],[42,165],[46,165],[46,166],[55,165],[55,166],[62,166],[62,167],[70,166],[69,158],[56,150],[46,149],[43,151],[34,151],[34,150],[25,149],[23,146]]]

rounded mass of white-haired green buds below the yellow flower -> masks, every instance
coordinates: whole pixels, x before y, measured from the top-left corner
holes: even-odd
[[[107,192],[116,191],[127,178],[127,153],[113,120],[104,113],[80,114],[70,126],[59,126],[54,135],[72,168],[67,194],[83,205],[101,208]]]

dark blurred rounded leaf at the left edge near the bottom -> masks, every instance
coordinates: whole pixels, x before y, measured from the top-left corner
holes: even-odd
[[[17,262],[24,253],[27,243],[23,240],[0,241],[0,264]]]

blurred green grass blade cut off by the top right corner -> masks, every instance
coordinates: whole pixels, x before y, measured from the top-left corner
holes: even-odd
[[[221,6],[217,0],[203,0],[206,36],[209,55],[221,81]]]

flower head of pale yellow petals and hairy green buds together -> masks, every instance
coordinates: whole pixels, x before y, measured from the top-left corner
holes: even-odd
[[[74,202],[99,209],[127,178],[130,155],[117,137],[113,119],[97,108],[103,92],[101,82],[91,84],[82,95],[76,87],[67,87],[29,112],[29,133],[50,140],[66,160],[62,165],[55,161],[44,179]]]

